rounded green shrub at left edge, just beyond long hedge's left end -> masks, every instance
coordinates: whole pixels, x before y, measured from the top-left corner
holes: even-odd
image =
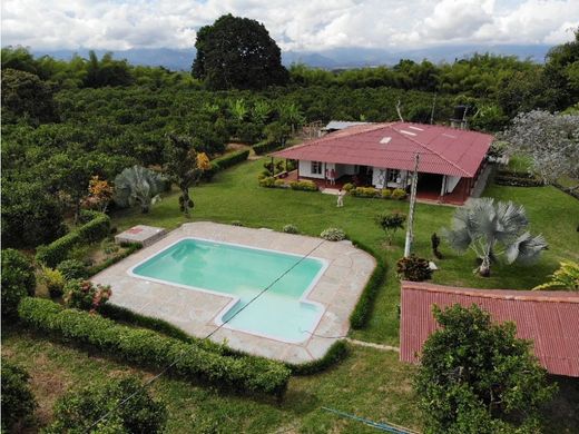
[[[2,318],[16,316],[22,297],[35,295],[35,267],[20,251],[2,250]]]

